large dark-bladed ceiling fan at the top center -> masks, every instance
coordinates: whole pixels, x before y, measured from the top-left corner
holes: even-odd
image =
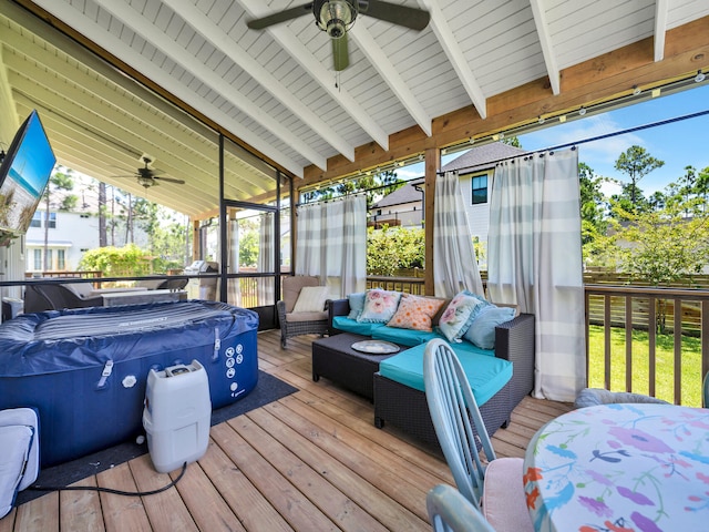
[[[352,27],[358,14],[366,14],[417,31],[423,30],[431,19],[425,10],[379,0],[316,0],[260,19],[249,20],[246,25],[251,30],[263,30],[269,25],[296,19],[309,11],[312,11],[317,27],[331,38],[335,70],[338,72],[349,65],[347,31]]]

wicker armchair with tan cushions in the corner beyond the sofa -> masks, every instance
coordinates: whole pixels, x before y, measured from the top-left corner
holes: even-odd
[[[296,275],[284,277],[282,299],[276,303],[278,321],[280,323],[280,345],[286,348],[288,338],[300,335],[325,335],[328,330],[328,313],[323,307],[320,311],[294,313],[300,290],[306,286],[320,286],[317,277]]]

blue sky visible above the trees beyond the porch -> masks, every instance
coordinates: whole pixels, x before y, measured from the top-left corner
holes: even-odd
[[[695,89],[564,124],[549,124],[544,130],[520,135],[518,139],[522,147],[530,151],[579,142],[579,161],[590,166],[597,175],[619,180],[625,176],[614,168],[618,156],[634,144],[643,146],[655,158],[665,161],[662,167],[638,183],[643,193],[649,196],[676,182],[685,174],[685,166],[691,165],[697,170],[709,167],[709,114],[602,141],[580,141],[706,110],[709,110],[709,79]],[[460,155],[459,152],[443,157],[443,164]],[[397,171],[403,178],[421,176],[423,172],[423,164]],[[603,191],[615,194],[619,187],[604,185]]]

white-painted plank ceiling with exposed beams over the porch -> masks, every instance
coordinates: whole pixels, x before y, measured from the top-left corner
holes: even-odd
[[[17,125],[40,110],[60,162],[201,216],[216,208],[216,135],[95,59],[10,0],[0,0],[0,83]],[[664,58],[668,30],[709,16],[707,0],[391,0],[425,9],[417,32],[361,14],[350,65],[335,72],[329,37],[311,13],[267,30],[249,19],[302,0],[34,0],[34,3],[253,146],[294,176],[356,149],[389,147],[411,126],[639,40]],[[34,19],[34,20],[32,20]],[[0,100],[0,104],[2,101]],[[147,191],[112,180],[142,154],[185,185]],[[242,151],[227,194],[249,201],[274,172]],[[124,173],[124,172],[123,172]]]

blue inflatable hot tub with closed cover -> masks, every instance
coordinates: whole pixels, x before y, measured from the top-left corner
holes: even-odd
[[[42,467],[142,432],[151,369],[198,360],[212,408],[258,380],[258,315],[217,301],[91,307],[20,315],[0,325],[0,410],[40,417]]]

